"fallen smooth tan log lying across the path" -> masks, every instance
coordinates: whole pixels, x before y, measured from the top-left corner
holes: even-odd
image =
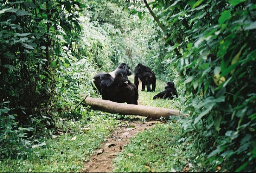
[[[178,110],[134,104],[122,104],[91,97],[85,98],[85,103],[89,105],[92,109],[103,110],[110,113],[119,113],[120,115],[140,115],[152,118],[168,118],[169,116],[177,116],[180,114]]]

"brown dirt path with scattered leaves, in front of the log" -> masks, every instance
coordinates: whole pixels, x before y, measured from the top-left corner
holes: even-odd
[[[118,128],[105,139],[101,149],[95,151],[90,156],[90,161],[84,165],[84,172],[111,172],[113,169],[113,159],[117,153],[122,151],[123,146],[128,144],[130,138],[138,132],[154,127],[155,123],[160,123],[160,121],[121,121]]]

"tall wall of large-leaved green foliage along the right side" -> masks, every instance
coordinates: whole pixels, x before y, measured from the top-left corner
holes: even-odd
[[[167,36],[169,44],[164,58],[155,61],[163,63],[162,69],[175,66],[180,75],[173,77],[171,72],[169,79],[175,78],[182,88],[180,95],[187,100],[183,112],[192,115],[188,121],[198,129],[194,138],[209,141],[204,142],[208,155],[204,164],[211,171],[216,166],[224,171],[255,170],[255,3],[156,0],[149,4],[165,25],[158,36]],[[153,18],[152,22],[157,25]],[[208,130],[212,135],[205,136],[205,128],[212,127],[215,131]]]

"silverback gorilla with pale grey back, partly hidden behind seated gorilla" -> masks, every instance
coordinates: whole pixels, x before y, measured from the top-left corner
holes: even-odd
[[[118,72],[121,72],[122,75],[124,76],[125,79],[128,79],[128,76],[131,75],[131,69],[126,63],[121,63],[113,72],[110,72],[109,74],[112,76],[112,78],[115,78],[116,74]],[[106,72],[99,72],[93,77],[93,82],[97,89],[99,90],[99,93],[102,94],[101,92],[101,76],[107,74]]]

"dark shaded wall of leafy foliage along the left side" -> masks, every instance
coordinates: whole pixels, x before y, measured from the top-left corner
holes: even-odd
[[[51,63],[61,54],[58,37],[81,29],[80,7],[73,0],[0,4],[1,159],[20,155],[28,137],[47,132],[50,115],[42,110],[54,87]]]

